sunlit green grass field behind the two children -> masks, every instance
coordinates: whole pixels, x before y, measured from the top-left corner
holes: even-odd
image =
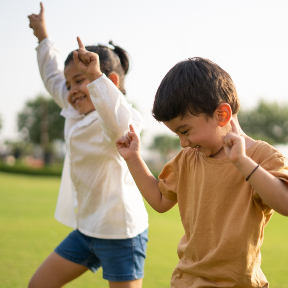
[[[54,217],[60,178],[0,173],[0,287],[26,287],[40,263],[70,232]],[[177,207],[149,213],[144,288],[170,287],[183,235]],[[262,270],[271,288],[288,286],[288,219],[275,213],[265,228]],[[66,287],[108,287],[102,272],[88,271]]]

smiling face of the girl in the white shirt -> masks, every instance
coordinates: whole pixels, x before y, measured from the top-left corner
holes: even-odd
[[[69,91],[68,101],[81,114],[88,114],[95,110],[91,101],[87,85],[89,80],[76,68],[71,61],[64,68],[66,87]]]

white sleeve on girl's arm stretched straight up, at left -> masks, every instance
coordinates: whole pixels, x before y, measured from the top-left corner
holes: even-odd
[[[57,46],[49,39],[42,40],[37,51],[40,76],[45,88],[61,108],[68,107],[68,90],[64,77],[64,62]]]

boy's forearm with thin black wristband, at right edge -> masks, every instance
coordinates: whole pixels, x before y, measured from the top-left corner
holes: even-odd
[[[245,179],[257,167],[257,163],[248,156],[234,164]],[[249,177],[249,183],[263,202],[278,213],[288,216],[288,185],[259,166]]]

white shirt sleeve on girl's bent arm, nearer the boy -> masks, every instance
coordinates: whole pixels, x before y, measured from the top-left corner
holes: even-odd
[[[138,134],[141,132],[141,114],[127,102],[121,91],[105,74],[90,83],[87,88],[98,112],[107,145],[116,147],[115,141],[129,131],[130,124]]]

